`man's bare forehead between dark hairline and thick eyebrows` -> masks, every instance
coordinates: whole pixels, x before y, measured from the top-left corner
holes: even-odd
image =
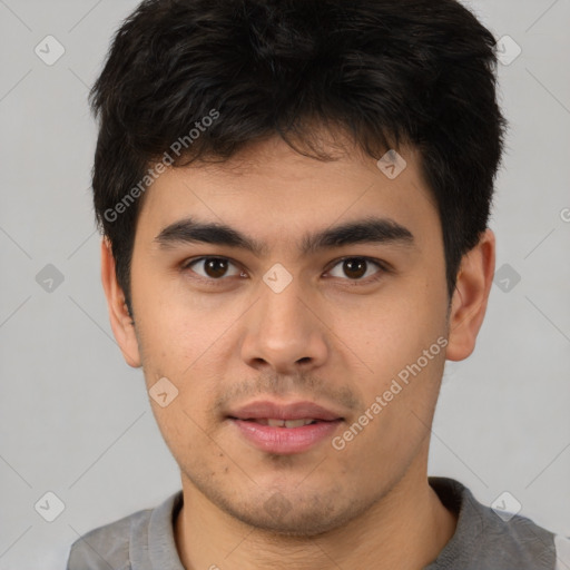
[[[154,239],[194,218],[235,228],[259,248],[272,240],[292,245],[295,238],[295,247],[308,253],[307,228],[364,217],[413,227],[414,235],[438,233],[438,210],[420,175],[419,155],[404,149],[401,158],[405,167],[390,178],[358,151],[322,161],[273,139],[225,163],[168,168],[147,190],[137,234]]]

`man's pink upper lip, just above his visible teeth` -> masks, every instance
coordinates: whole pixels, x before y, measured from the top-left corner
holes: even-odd
[[[293,402],[289,404],[279,404],[267,400],[250,402],[242,407],[230,411],[229,417],[237,420],[323,420],[334,421],[343,417],[337,413],[315,404],[314,402]]]

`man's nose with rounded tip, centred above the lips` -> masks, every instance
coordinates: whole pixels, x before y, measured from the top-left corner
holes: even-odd
[[[279,374],[307,372],[323,365],[330,351],[327,327],[299,279],[294,278],[279,293],[263,284],[261,296],[246,313],[244,362],[259,371],[271,367]]]

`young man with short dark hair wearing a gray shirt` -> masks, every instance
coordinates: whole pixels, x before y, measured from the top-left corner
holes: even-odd
[[[494,71],[455,0],[124,22],[91,92],[102,284],[183,490],[69,570],[557,567],[561,537],[426,475],[494,272]]]

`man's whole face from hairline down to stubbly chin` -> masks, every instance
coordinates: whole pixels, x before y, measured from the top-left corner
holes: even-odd
[[[355,150],[325,163],[277,139],[169,169],[144,198],[121,347],[160,394],[185,488],[248,524],[315,534],[421,472],[449,299],[435,204],[401,154],[390,179]],[[243,410],[258,402],[322,417],[262,425]]]

